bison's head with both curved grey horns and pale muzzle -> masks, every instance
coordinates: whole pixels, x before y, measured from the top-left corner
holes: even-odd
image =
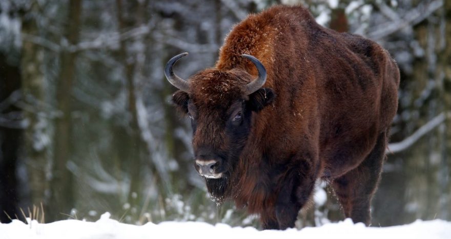
[[[274,99],[271,89],[262,88],[266,70],[254,56],[243,54],[257,68],[257,78],[242,68],[210,68],[185,81],[172,66],[186,55],[171,58],[165,74],[180,89],[173,95],[174,104],[191,120],[195,168],[209,179],[230,177],[252,132],[255,112]]]

